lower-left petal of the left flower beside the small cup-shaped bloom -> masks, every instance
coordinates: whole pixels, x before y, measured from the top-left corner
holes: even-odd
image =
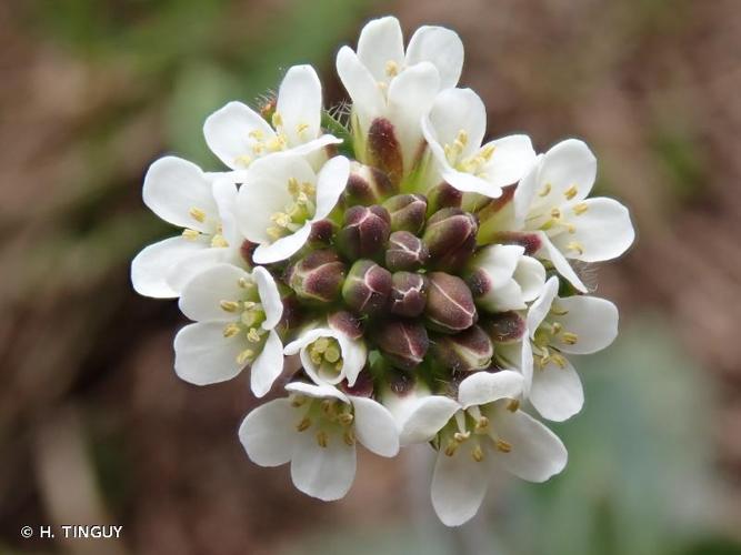
[[[224,337],[223,323],[199,322],[178,332],[174,337],[174,371],[196,385],[231,380],[244,367],[237,356],[246,349],[242,337]]]

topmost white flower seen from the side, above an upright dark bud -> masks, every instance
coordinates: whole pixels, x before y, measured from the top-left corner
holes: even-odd
[[[368,131],[374,120],[393,125],[403,172],[408,173],[422,145],[420,120],[441,89],[455,87],[463,67],[463,44],[453,31],[421,27],[404,53],[399,21],[374,19],[360,32],[358,52],[342,47],[337,72],[352,99],[353,132],[361,161]]]

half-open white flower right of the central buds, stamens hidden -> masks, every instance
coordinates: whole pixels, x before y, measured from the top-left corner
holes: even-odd
[[[520,245],[481,249],[470,263],[469,284],[475,302],[491,312],[527,309],[545,283],[545,269]]]

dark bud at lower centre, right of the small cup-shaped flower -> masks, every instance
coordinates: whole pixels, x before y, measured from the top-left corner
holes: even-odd
[[[383,322],[375,330],[374,340],[385,360],[402,370],[419,365],[430,346],[427,330],[417,321]]]

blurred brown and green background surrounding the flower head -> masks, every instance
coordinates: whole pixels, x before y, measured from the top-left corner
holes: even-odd
[[[737,0],[6,0],[0,3],[0,553],[741,553],[741,6]],[[174,302],[129,262],[172,233],[141,202],[173,152],[219,169],[201,125],[363,21],[457,30],[492,135],[583,138],[638,241],[597,270],[621,336],[577,362],[587,404],[543,486],[495,477],[450,531],[424,448],[363,453],[324,504],[261,468],[237,427],[247,375],[172,371]],[[22,539],[119,524],[120,542]]]

